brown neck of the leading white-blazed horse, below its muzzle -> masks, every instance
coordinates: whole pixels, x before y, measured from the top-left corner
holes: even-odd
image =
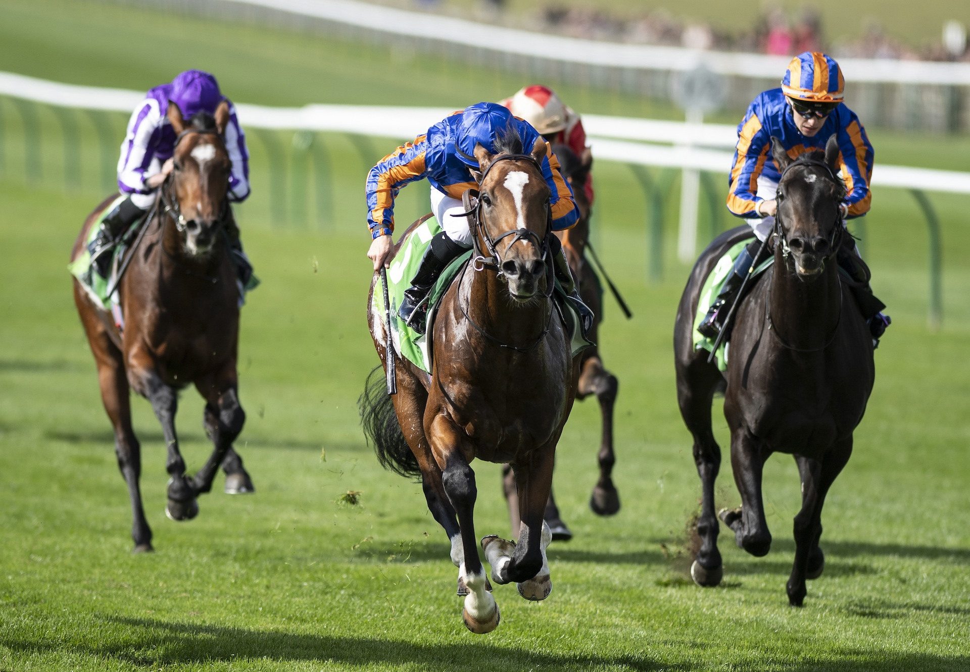
[[[529,305],[516,305],[507,292],[497,273],[469,271],[459,289],[458,301],[489,336],[510,345],[529,346],[545,329],[551,299],[540,298]],[[542,292],[541,286],[539,292]],[[477,330],[474,336],[479,336]],[[482,338],[490,340],[487,336]]]

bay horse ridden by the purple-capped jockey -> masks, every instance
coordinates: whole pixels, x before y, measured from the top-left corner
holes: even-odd
[[[144,224],[145,239],[132,249],[130,266],[118,284],[123,330],[96,305],[77,278],[74,301],[98,368],[101,399],[114,430],[114,451],[131,497],[134,552],[151,551],[139,477],[141,446],[131,425],[129,389],[151,402],[168,449],[165,508],[184,521],[199,512],[196,496],[208,493],[221,464],[226,492],[253,492],[249,474],[232,444],[245,413],[237,394],[239,293],[236,271],[221,228],[228,217],[230,160],[222,133],[229,107],[200,112],[186,122],[169,104],[178,136],[174,168],[160,187],[159,201]],[[114,197],[84,221],[71,258],[83,252],[88,231]],[[214,450],[194,477],[185,473],[178,451],[175,416],[178,391],[194,384],[206,400],[204,427]]]

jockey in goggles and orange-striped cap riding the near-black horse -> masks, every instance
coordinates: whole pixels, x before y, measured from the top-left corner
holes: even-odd
[[[828,138],[835,135],[840,153],[840,173],[846,183],[847,196],[841,204],[845,219],[860,217],[869,211],[872,194],[873,149],[865,129],[853,112],[842,102],[845,80],[835,60],[819,51],[805,51],[792,58],[780,88],[760,93],[745,112],[737,127],[734,165],[729,178],[727,209],[748,220],[757,240],[753,241],[734,262],[734,272],[727,278],[718,296],[697,331],[716,337],[724,327],[724,319],[753,263],[760,241],[774,228],[778,208],[775,194],[780,174],[771,158],[771,139],[776,138],[792,159],[815,149],[824,150]],[[889,317],[879,312],[884,304],[872,297],[868,287],[868,271],[855,242],[843,246],[838,255],[841,266],[864,284],[871,301],[860,306],[873,336],[882,336]],[[852,248],[849,248],[849,245]]]

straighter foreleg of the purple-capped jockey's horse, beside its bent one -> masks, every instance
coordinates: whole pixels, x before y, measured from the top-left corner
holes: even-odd
[[[178,393],[175,388],[165,381],[152,368],[150,357],[136,352],[129,357],[129,380],[135,378],[136,387],[142,391],[151,403],[155,417],[162,426],[165,437],[165,447],[168,457],[165,470],[169,472],[168,503],[165,514],[174,521],[187,521],[199,514],[199,504],[195,500],[195,489],[192,482],[185,475],[185,461],[178,452],[178,436],[176,435],[176,410],[178,410]]]

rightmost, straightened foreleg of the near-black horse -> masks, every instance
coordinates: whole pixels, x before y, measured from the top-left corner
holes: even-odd
[[[822,537],[822,507],[828,489],[849,462],[852,436],[837,442],[823,460],[796,458],[801,475],[802,506],[794,517],[794,562],[786,590],[789,603],[800,607],[805,600],[805,579],[822,575],[824,555],[819,548]]]

